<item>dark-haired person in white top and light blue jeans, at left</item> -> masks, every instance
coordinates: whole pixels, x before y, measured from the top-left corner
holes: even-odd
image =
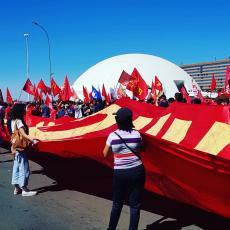
[[[25,115],[25,105],[15,104],[11,112],[11,130],[12,133],[15,132],[15,128],[19,130],[23,138],[27,139],[31,143],[35,143],[28,135],[28,127],[24,121]],[[16,122],[16,123],[15,123]],[[37,194],[36,191],[30,191],[27,188],[29,182],[29,161],[27,159],[26,150],[19,151],[17,149],[11,148],[14,154],[14,165],[12,172],[12,185],[14,185],[14,195],[22,194],[22,196],[34,196]]]

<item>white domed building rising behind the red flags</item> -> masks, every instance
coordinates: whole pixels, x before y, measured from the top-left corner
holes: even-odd
[[[74,82],[73,88],[82,97],[83,85],[91,91],[92,85],[102,89],[104,83],[109,92],[110,88],[117,86],[123,70],[131,74],[135,67],[149,86],[156,75],[162,82],[167,98],[178,92],[174,80],[182,80],[187,90],[192,89],[192,78],[183,69],[165,59],[146,54],[124,54],[101,61],[84,72]]]

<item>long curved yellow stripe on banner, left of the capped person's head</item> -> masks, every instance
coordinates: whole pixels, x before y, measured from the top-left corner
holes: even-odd
[[[119,108],[120,106],[113,104],[101,110],[96,114],[106,114],[107,115],[106,118],[100,122],[90,124],[88,126],[78,127],[70,130],[50,131],[50,132],[43,132],[37,129],[37,127],[32,127],[30,128],[30,135],[33,138],[38,138],[40,140],[57,140],[57,139],[81,136],[94,131],[100,131],[116,124],[115,117],[112,114],[116,112]],[[39,125],[41,125],[41,123],[39,123]]]

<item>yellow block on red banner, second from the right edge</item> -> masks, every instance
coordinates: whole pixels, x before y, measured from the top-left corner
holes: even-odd
[[[185,121],[175,118],[162,139],[179,144],[186,136],[192,121]]]

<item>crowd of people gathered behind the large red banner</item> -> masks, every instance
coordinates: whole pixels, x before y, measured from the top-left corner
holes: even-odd
[[[116,100],[116,99],[115,99]],[[112,104],[115,100],[107,103],[105,100],[92,99],[90,102],[84,102],[81,99],[76,101],[53,101],[50,105],[47,105],[44,101],[40,102],[27,102],[26,112],[34,116],[40,116],[44,118],[51,118],[53,120],[60,117],[68,116],[72,118],[82,118],[96,113],[106,106]],[[133,100],[136,100],[134,97]],[[168,107],[174,102],[179,103],[191,103],[191,104],[212,104],[212,105],[229,105],[230,100],[228,97],[217,97],[214,100],[210,98],[203,98],[201,100],[198,97],[191,98],[188,102],[182,93],[175,93],[174,97],[166,98],[165,94],[162,94],[157,98],[157,101],[153,97],[148,97],[143,103],[153,104],[160,107]],[[10,127],[12,104],[0,103],[0,121],[1,127],[5,130],[4,121],[7,123],[9,134],[12,133]]]

